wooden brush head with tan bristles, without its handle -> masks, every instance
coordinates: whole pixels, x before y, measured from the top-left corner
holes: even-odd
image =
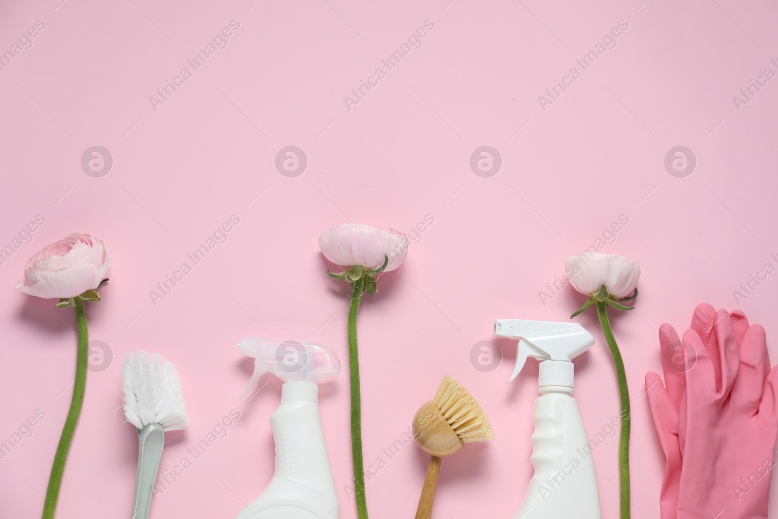
[[[443,376],[435,398],[413,417],[413,436],[422,451],[440,458],[457,453],[464,444],[494,440],[481,406],[448,375]]]

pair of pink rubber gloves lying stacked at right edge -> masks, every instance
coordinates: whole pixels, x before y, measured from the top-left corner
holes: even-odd
[[[764,329],[749,327],[739,310],[727,314],[701,304],[681,350],[666,324],[660,343],[671,361],[664,368],[668,388],[656,373],[646,380],[668,456],[662,518],[766,519],[778,433],[778,368],[769,370]],[[681,352],[675,363],[668,348]]]

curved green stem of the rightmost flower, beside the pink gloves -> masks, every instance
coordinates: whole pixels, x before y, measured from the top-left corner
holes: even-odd
[[[630,410],[629,410],[629,389],[627,388],[627,376],[624,370],[624,361],[619,352],[619,345],[611,331],[611,323],[608,321],[608,313],[605,301],[597,302],[597,314],[600,317],[600,326],[605,340],[608,341],[608,347],[611,349],[613,363],[616,366],[616,377],[619,378],[619,398],[622,402],[622,433],[619,438],[619,479],[621,483],[622,495],[622,519],[629,519],[629,428],[630,428]]]

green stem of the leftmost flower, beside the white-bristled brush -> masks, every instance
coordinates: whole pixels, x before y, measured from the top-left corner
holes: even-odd
[[[59,496],[59,487],[62,483],[62,472],[65,471],[65,460],[68,458],[70,443],[73,440],[75,425],[79,422],[81,406],[84,403],[84,391],[86,390],[86,367],[88,363],[89,331],[86,329],[86,313],[84,312],[84,301],[80,297],[75,297],[75,324],[78,329],[78,353],[75,357],[75,383],[73,384],[73,397],[70,401],[70,410],[65,419],[65,426],[62,428],[62,434],[59,437],[57,453],[54,454],[54,464],[51,465],[51,475],[49,475],[49,484],[46,489],[46,501],[44,503],[43,519],[54,519],[54,513],[57,511],[57,499]]]

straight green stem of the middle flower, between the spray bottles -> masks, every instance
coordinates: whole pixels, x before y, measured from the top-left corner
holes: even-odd
[[[362,460],[362,409],[359,393],[359,352],[356,349],[356,314],[362,300],[364,277],[352,283],[354,292],[349,305],[349,376],[351,378],[351,451],[354,466],[354,493],[359,519],[367,519],[365,469]]]

